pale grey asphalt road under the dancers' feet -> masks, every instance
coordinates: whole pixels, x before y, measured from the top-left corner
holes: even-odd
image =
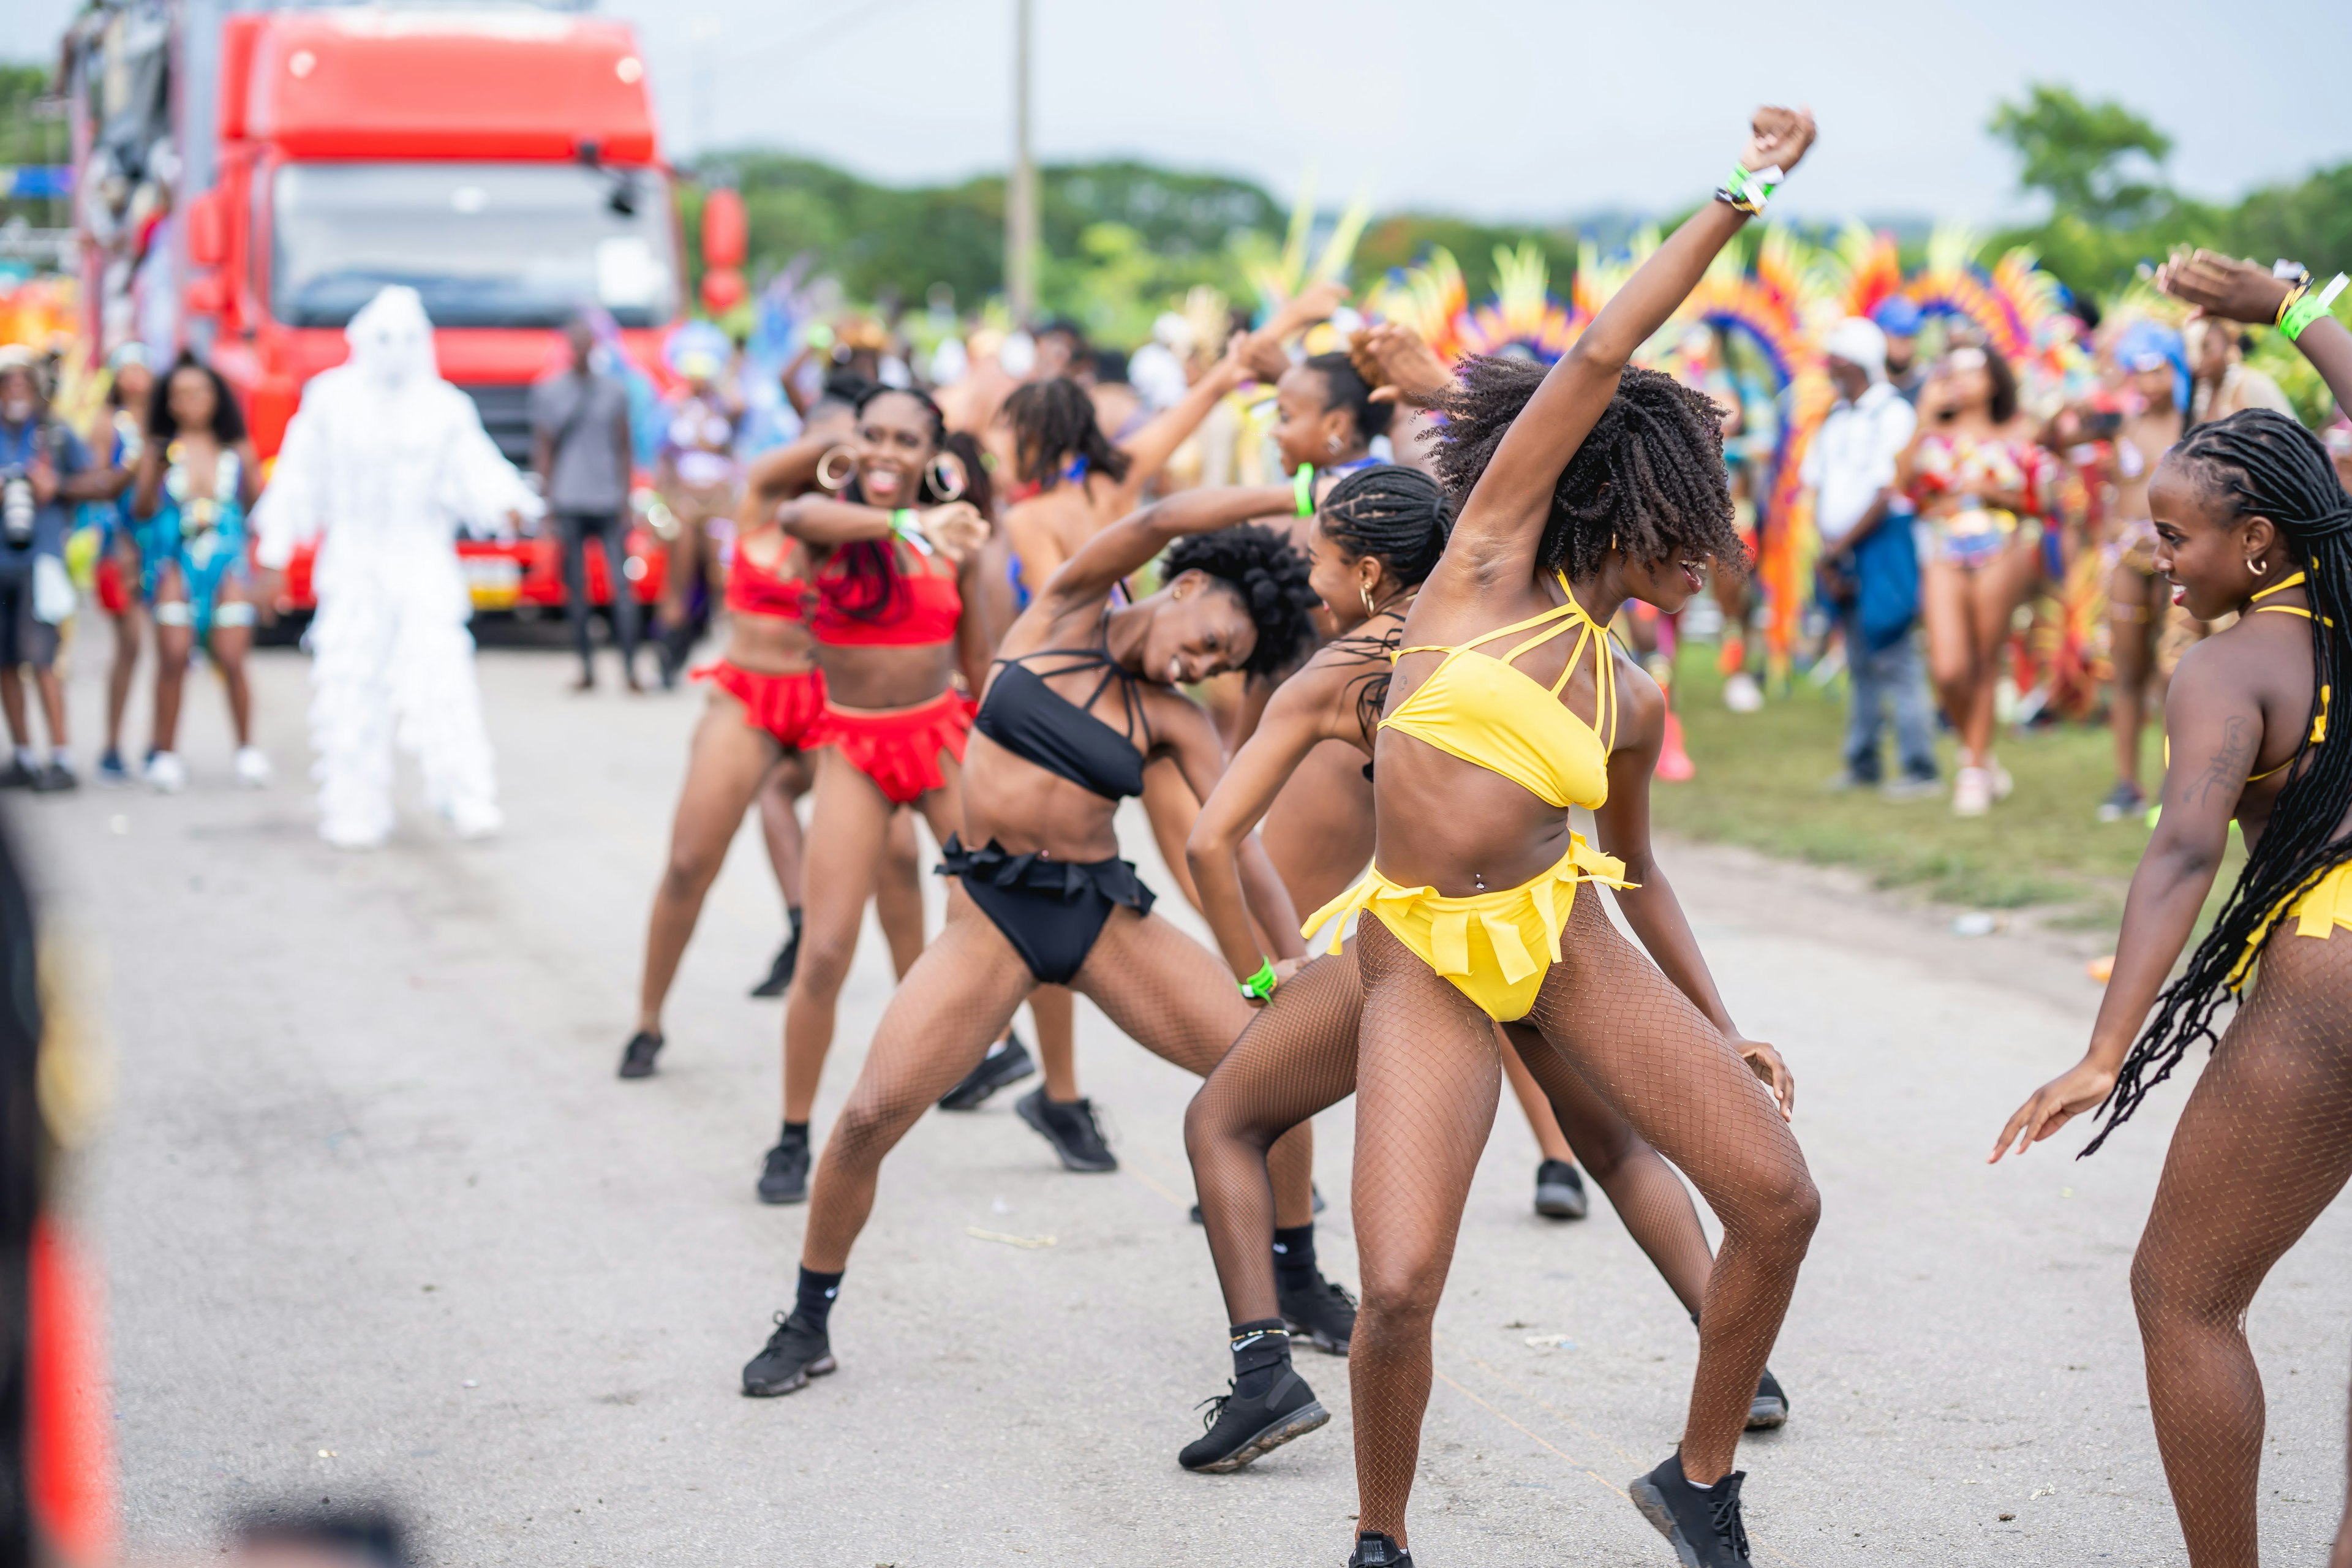
[[[99,663],[75,677],[85,757]],[[779,1006],[743,992],[781,931],[753,835],[663,1072],[612,1074],[701,696],[574,698],[562,656],[485,654],[508,835],[459,844],[412,792],[397,842],[348,856],[310,835],[303,663],[256,663],[278,788],[230,785],[200,677],[186,795],[7,804],[56,929],[108,973],[118,1098],[75,1201],[108,1267],[134,1552],[209,1554],[259,1502],[381,1497],[435,1563],[1343,1561],[1341,1361],[1298,1356],[1327,1429],[1237,1476],[1176,1467],[1225,1382],[1185,1074],[1080,1011],[1117,1175],[1061,1173],[1014,1095],[927,1117],[851,1260],[842,1371],[748,1401],[802,1229],[753,1199]],[[1757,1561],[2183,1561],[2126,1295],[2183,1088],[2093,1161],[2067,1138],[1987,1171],[2006,1112],[2079,1051],[2077,954],[1962,940],[1816,872],[1670,867],[1736,1016],[1799,1074],[1823,1187],[1773,1356],[1795,1415],[1740,1455]],[[818,1128],[887,992],[868,931]],[[1319,1135],[1322,1251],[1352,1284],[1348,1107]],[[1414,1554],[1661,1566],[1618,1488],[1675,1441],[1696,1338],[1604,1204],[1531,1213],[1534,1161],[1505,1100],[1439,1312]],[[2338,1204],[2253,1307],[2277,1561],[2321,1561],[2343,1495],[2347,1286]]]

